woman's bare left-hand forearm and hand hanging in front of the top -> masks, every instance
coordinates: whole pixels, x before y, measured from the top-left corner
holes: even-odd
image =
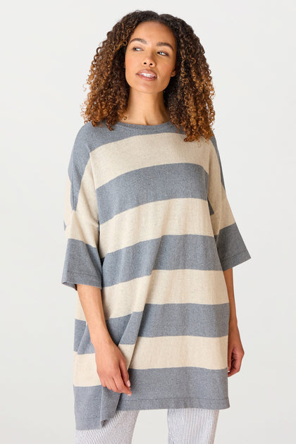
[[[90,340],[94,345],[101,385],[113,392],[131,395],[125,357],[113,343],[106,326],[101,289],[92,285],[77,284],[77,291],[90,331]]]

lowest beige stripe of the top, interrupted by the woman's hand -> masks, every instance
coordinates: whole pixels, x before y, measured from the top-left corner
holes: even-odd
[[[129,369],[164,369],[169,367],[201,367],[225,369],[228,336],[138,337],[135,345],[119,344]],[[73,352],[73,383],[75,386],[101,386],[94,353]],[[133,354],[133,355],[132,355]]]

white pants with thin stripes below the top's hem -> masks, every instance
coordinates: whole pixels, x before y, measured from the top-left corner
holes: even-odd
[[[102,428],[76,430],[75,444],[131,444],[140,410],[116,410]],[[219,410],[168,409],[168,444],[213,444]]]

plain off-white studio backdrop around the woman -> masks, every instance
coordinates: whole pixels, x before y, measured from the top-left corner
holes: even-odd
[[[295,428],[293,1],[14,1],[1,11],[1,442],[74,443],[75,290],[61,284],[66,170],[90,63],[126,13],[199,36],[226,192],[252,259],[233,269],[245,357],[217,444],[292,443]],[[167,442],[166,409],[133,444]]]

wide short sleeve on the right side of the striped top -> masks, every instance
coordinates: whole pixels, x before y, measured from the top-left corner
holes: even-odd
[[[208,203],[211,226],[223,271],[251,259],[228,202],[215,136],[211,137],[209,154]]]

